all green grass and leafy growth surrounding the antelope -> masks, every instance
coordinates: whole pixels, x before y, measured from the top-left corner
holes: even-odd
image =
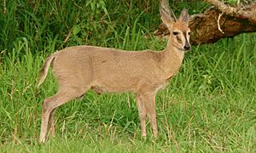
[[[200,13],[203,2],[170,3]],[[138,1],[1,3],[0,152],[166,152],[256,150],[256,35],[199,45],[186,54],[170,85],[157,94],[160,137],[141,138],[132,94],[89,92],[56,112],[56,136],[38,143],[42,102],[55,94],[50,73],[36,88],[44,58],[73,45],[125,50],[166,47],[151,36],[159,4]],[[6,8],[6,9],[5,9]],[[148,38],[144,37],[148,35]]]

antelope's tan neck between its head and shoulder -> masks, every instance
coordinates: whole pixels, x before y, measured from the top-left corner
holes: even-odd
[[[166,49],[162,52],[162,69],[168,77],[176,74],[180,68],[184,58],[183,50],[180,50],[172,42],[172,37],[169,37]]]

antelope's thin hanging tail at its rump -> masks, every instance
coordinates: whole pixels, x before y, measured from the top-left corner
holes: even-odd
[[[44,61],[44,65],[42,67],[42,70],[40,71],[40,77],[39,77],[39,82],[38,82],[38,88],[40,87],[40,85],[44,82],[47,74],[48,74],[48,70],[49,70],[49,65],[51,64],[51,62],[53,61],[53,59],[55,59],[55,55],[51,54],[45,61]]]

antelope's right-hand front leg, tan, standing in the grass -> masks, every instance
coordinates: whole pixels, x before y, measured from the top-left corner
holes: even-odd
[[[156,111],[155,111],[155,94],[145,93],[142,96],[143,104],[148,112],[149,121],[153,129],[154,137],[157,137],[157,123],[156,123]]]

